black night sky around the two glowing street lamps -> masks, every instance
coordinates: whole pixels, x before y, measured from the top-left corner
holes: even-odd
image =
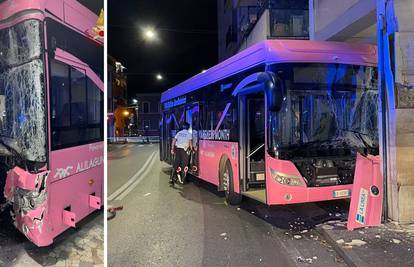
[[[129,97],[163,92],[217,64],[216,2],[108,1],[108,53],[127,68]],[[145,26],[155,27],[158,41],[144,40]]]

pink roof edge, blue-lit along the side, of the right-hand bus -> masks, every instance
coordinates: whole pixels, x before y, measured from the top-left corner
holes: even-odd
[[[375,66],[377,64],[377,48],[368,44],[266,40],[243,50],[206,72],[168,89],[161,95],[161,102],[195,91],[259,64],[288,62]]]

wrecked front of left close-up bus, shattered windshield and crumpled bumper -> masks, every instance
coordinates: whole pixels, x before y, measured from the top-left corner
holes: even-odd
[[[0,186],[16,225],[41,231],[49,175],[42,22],[0,29]],[[28,214],[31,214],[28,216]],[[24,226],[23,226],[24,225]]]

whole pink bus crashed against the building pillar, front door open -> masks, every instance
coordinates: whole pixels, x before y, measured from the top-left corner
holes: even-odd
[[[190,173],[230,204],[349,198],[355,179],[378,175],[356,171],[378,164],[376,64],[370,45],[254,45],[162,94],[161,160],[171,163],[171,139],[186,121]]]

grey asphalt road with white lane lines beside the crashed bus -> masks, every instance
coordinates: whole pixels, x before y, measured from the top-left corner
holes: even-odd
[[[124,208],[108,222],[108,266],[346,266],[312,229],[346,203],[228,206],[202,181],[170,187],[157,144],[108,151],[109,205]]]

